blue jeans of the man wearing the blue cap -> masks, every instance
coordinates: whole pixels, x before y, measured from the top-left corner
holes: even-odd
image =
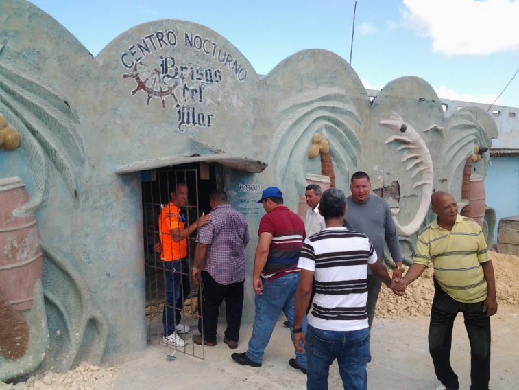
[[[278,321],[281,310],[289,320],[290,327],[293,326],[293,315],[295,305],[295,288],[299,283],[299,273],[289,273],[272,282],[263,281],[263,294],[254,297],[256,311],[254,313],[254,325],[252,336],[250,336],[247,347],[247,357],[253,362],[261,363],[265,348],[269,343],[274,326]],[[303,319],[303,332],[306,331],[306,314]],[[289,330],[291,338],[293,334]],[[299,367],[306,369],[306,354],[295,352],[295,361]]]

